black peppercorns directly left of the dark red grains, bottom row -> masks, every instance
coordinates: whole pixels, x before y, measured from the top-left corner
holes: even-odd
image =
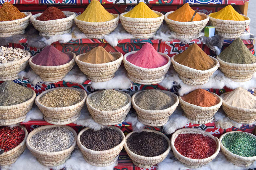
[[[168,149],[167,140],[154,132],[134,132],[126,143],[133,153],[141,156],[158,156]]]

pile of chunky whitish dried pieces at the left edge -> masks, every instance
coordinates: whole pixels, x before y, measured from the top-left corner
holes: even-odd
[[[12,47],[0,47],[0,63],[8,63],[26,57],[25,50]]]

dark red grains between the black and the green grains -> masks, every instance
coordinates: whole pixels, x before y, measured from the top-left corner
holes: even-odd
[[[196,133],[179,134],[174,141],[174,147],[183,156],[192,159],[204,159],[216,151],[216,142],[208,137]]]

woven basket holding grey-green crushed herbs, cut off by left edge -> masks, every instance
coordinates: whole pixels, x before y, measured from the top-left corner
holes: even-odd
[[[31,91],[33,91],[31,89]],[[26,119],[27,113],[33,106],[36,93],[33,91],[33,96],[20,104],[11,106],[0,106],[0,125],[14,125]]]

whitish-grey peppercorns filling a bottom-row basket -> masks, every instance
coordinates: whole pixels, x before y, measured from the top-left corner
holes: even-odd
[[[29,139],[32,148],[42,152],[58,152],[70,148],[75,140],[72,131],[53,127],[38,131]]]

